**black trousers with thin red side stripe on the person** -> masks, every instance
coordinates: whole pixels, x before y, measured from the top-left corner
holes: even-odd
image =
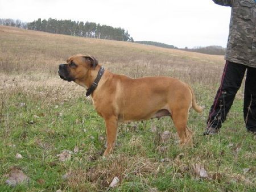
[[[256,68],[226,61],[222,74],[221,85],[218,88],[207,120],[207,127],[221,128],[226,120],[230,107],[243,76],[246,73],[245,95],[243,100],[243,118],[248,131],[256,131]]]

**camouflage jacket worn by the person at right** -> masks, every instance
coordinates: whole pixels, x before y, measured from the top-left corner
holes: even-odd
[[[256,3],[254,0],[213,0],[232,7],[225,59],[256,67]]]

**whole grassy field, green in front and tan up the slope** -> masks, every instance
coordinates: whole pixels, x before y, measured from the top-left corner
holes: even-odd
[[[191,85],[206,107],[190,111],[195,147],[180,149],[174,124],[162,118],[119,124],[117,147],[102,158],[103,119],[84,88],[57,76],[76,53],[115,73]],[[202,136],[223,65],[223,56],[0,26],[0,191],[256,191],[256,138],[243,123],[243,86],[220,134]],[[164,131],[171,132],[166,141]],[[7,185],[14,169],[29,179]],[[119,182],[109,187],[114,177]]]

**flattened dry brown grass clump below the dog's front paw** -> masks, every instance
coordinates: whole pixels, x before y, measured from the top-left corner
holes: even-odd
[[[147,182],[147,176],[156,176],[159,166],[159,162],[144,157],[110,156],[103,161],[99,159],[97,164],[88,170],[83,168],[70,170],[67,180],[76,190],[85,189],[83,184],[88,181],[93,183],[94,190],[104,190],[109,187],[114,177],[118,177],[122,182],[123,180],[132,181],[135,176]]]

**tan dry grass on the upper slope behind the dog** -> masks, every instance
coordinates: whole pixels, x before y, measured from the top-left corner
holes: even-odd
[[[43,72],[54,77],[57,65],[71,55],[82,53],[93,55],[106,68],[130,77],[168,75],[186,82],[209,84],[219,81],[224,65],[223,56],[6,26],[0,26],[0,45],[0,70],[8,74]]]

